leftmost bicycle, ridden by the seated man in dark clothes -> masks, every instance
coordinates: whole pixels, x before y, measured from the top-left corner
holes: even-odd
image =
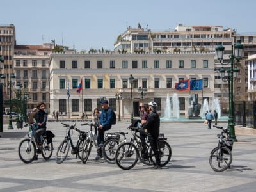
[[[47,130],[41,136],[42,145],[38,145],[38,143],[35,141],[35,126],[36,123],[29,126],[28,138],[20,141],[19,144],[19,157],[24,163],[31,163],[36,159],[37,154],[42,154],[45,160],[50,159],[52,156],[52,138],[54,138],[54,134]]]

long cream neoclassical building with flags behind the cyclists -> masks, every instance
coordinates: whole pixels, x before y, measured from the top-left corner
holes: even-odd
[[[92,114],[100,108],[102,97],[122,118],[139,116],[141,94],[138,88],[147,88],[143,102],[157,102],[157,111],[163,116],[167,94],[177,93],[180,115],[188,115],[189,95],[198,94],[210,102],[214,97],[214,52],[179,52],[163,54],[81,54],[57,53],[49,58],[50,113],[62,111],[67,117]],[[129,78],[134,77],[131,84]],[[185,79],[203,79],[203,90],[178,91],[175,83]],[[76,93],[82,81],[82,90]],[[67,95],[69,88],[70,97]],[[122,100],[116,100],[122,93]],[[132,97],[131,97],[132,96]],[[131,98],[132,104],[131,107]]]

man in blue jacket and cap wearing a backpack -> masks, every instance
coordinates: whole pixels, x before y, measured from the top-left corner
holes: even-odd
[[[97,144],[98,147],[102,147],[104,144],[104,132],[111,129],[112,120],[113,120],[113,109],[109,108],[108,100],[102,100],[100,102],[102,111],[100,113],[100,124],[98,128]],[[98,160],[102,157],[101,150],[97,151],[98,154],[95,157],[95,160]]]

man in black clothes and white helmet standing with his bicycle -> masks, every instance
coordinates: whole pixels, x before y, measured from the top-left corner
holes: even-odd
[[[160,154],[157,147],[160,129],[160,117],[157,114],[156,107],[156,102],[152,101],[148,103],[148,120],[143,126],[147,131],[148,141],[155,154],[156,164],[153,167],[154,169],[161,168]]]

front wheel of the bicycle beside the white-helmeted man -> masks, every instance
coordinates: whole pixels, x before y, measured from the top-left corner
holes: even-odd
[[[138,149],[132,143],[123,143],[116,150],[115,160],[122,170],[129,170],[135,166],[139,158]]]

